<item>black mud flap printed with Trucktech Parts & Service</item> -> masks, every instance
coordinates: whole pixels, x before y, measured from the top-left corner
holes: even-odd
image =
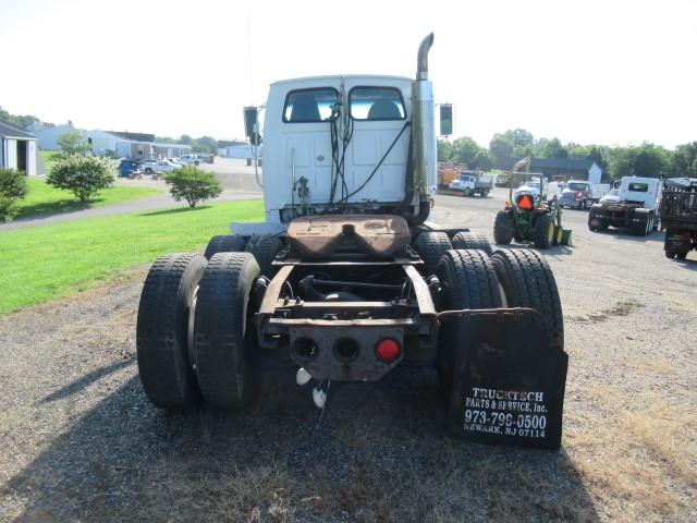
[[[480,443],[559,449],[568,356],[550,329],[529,314],[466,321],[474,336],[456,351],[449,433]]]

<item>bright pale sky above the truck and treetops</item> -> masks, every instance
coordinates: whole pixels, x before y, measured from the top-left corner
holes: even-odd
[[[413,76],[430,31],[431,78],[455,105],[456,135],[697,139],[689,0],[0,0],[0,106],[87,129],[236,137],[242,107],[269,83]]]

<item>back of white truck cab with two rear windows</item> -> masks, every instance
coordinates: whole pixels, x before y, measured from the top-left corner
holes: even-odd
[[[339,203],[400,205],[412,82],[354,75],[271,84],[262,153],[267,222],[290,221],[297,205],[317,211]]]

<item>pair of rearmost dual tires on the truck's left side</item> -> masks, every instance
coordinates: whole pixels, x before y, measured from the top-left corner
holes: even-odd
[[[138,308],[136,348],[145,393],[180,411],[203,400],[242,409],[256,389],[252,287],[259,266],[249,253],[159,258]]]

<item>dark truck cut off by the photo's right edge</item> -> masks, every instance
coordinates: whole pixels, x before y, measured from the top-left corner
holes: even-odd
[[[661,226],[667,258],[685,259],[697,250],[697,178],[671,178],[663,184]]]

